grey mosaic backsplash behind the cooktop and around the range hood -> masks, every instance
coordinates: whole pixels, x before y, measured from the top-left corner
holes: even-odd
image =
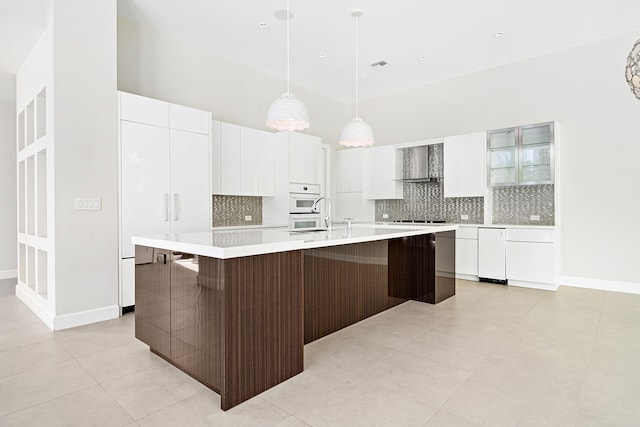
[[[429,145],[429,176],[442,178],[444,174],[443,144]],[[411,151],[403,150],[403,169],[411,167]],[[442,182],[404,183],[403,200],[376,200],[375,220],[398,219],[444,220],[453,223],[481,224],[484,222],[484,197],[444,197]],[[383,214],[389,218],[383,218]],[[462,215],[468,219],[462,220]]]

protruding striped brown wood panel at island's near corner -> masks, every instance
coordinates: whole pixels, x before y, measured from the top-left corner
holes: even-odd
[[[220,260],[227,410],[304,368],[302,251]]]

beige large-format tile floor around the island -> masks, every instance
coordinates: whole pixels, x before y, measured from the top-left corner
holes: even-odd
[[[134,338],[50,332],[0,281],[2,426],[640,426],[640,295],[458,282],[305,347],[227,412]]]

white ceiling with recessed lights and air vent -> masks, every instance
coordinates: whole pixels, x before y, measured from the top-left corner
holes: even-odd
[[[10,41],[0,46],[0,76],[15,74],[49,1],[0,0],[0,38]],[[345,102],[355,96],[354,8],[364,11],[361,99],[640,32],[638,0],[290,1],[292,82]],[[121,17],[283,79],[286,24],[274,12],[285,7],[286,0],[118,0]],[[504,37],[495,38],[498,31]],[[381,59],[391,65],[370,69]]]

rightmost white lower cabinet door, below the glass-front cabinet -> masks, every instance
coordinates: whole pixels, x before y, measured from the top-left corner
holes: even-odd
[[[553,243],[507,242],[507,277],[533,283],[554,283]]]

